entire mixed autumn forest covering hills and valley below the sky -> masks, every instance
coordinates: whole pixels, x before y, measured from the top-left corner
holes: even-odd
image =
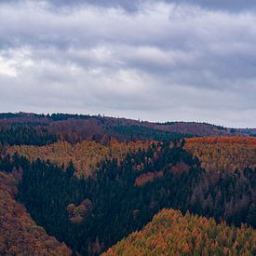
[[[134,249],[145,255],[152,243],[157,253],[162,247],[173,247],[175,253],[254,253],[255,138],[187,138],[195,133],[169,130],[176,122],[152,127],[89,115],[1,116],[0,175],[8,178],[0,182],[13,183],[1,190],[1,218],[17,222],[0,223],[2,251],[18,253],[24,237],[27,246],[36,244],[34,239],[48,241],[37,247],[46,254],[61,249],[68,255],[72,249],[81,255],[120,255],[119,250],[128,255]],[[201,129],[207,127],[202,124]],[[214,128],[223,135],[229,132]],[[161,209],[166,210],[154,218]],[[149,223],[153,218],[154,224]],[[27,227],[29,234],[18,228],[24,219],[34,226]],[[162,224],[166,236],[152,236],[155,222]],[[184,234],[186,239],[181,239]],[[200,239],[198,248],[195,239]],[[17,250],[8,250],[12,244]],[[29,249],[24,251],[33,253]]]

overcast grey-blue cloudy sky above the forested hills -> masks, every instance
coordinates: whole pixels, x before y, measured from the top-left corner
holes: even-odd
[[[2,0],[8,111],[256,127],[256,2]]]

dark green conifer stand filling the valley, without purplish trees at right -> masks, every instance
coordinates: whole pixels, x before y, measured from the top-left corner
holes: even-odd
[[[97,255],[141,228],[163,206],[185,207],[186,196],[192,191],[191,185],[184,184],[191,184],[197,171],[195,168],[192,173],[169,171],[169,164],[175,166],[180,160],[189,165],[193,162],[190,163],[191,157],[182,148],[172,148],[170,152],[168,149],[168,144],[161,147],[153,144],[147,151],[128,153],[120,165],[115,159],[105,161],[95,179],[71,179],[67,171],[49,162],[38,159],[30,164],[17,155],[10,159],[9,167],[7,160],[2,163],[9,170],[20,166],[24,170],[18,198],[47,234],[83,255]],[[165,167],[165,178],[144,186],[134,185],[142,173]],[[177,193],[178,187],[182,189]],[[86,212],[82,209],[85,200],[90,202]]]

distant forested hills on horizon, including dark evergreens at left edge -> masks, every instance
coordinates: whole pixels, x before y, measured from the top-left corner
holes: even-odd
[[[195,122],[151,123],[101,115],[0,114],[0,142],[8,144],[42,145],[57,141],[57,138],[73,143],[90,137],[104,141],[108,136],[115,137],[118,141],[169,141],[184,136],[232,136],[254,133],[256,132],[253,129],[223,128]],[[38,135],[36,140],[35,135]]]

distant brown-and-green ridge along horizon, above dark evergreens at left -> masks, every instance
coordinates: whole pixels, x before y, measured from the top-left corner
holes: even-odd
[[[67,141],[74,141],[74,133],[78,141],[90,136],[109,135],[117,140],[161,140],[167,139],[172,133],[178,137],[192,136],[256,136],[256,128],[224,128],[199,122],[148,122],[127,118],[102,115],[78,114],[34,114],[34,113],[2,113],[0,128],[27,126],[31,128],[47,128],[54,134],[59,134]],[[76,136],[77,137],[77,136]]]

